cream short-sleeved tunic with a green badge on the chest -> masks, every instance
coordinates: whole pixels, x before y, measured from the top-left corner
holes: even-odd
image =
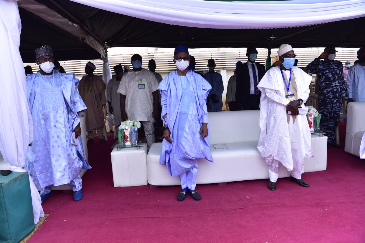
[[[123,75],[117,92],[126,96],[125,109],[129,120],[155,121],[152,92],[157,88],[156,77],[147,69],[142,68],[139,72],[130,70]]]

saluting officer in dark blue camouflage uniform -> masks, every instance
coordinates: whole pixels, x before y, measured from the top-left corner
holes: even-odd
[[[308,64],[306,70],[317,74],[319,80],[318,106],[322,115],[320,127],[327,133],[328,145],[340,148],[335,143],[335,129],[340,119],[342,98],[347,96],[342,62],[335,61],[335,47],[326,47],[319,57]],[[321,59],[324,59],[323,61]]]

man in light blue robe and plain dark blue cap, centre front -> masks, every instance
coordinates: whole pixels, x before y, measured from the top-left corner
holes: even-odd
[[[177,200],[183,201],[187,193],[194,200],[200,200],[195,190],[198,159],[213,162],[207,113],[211,85],[199,74],[188,71],[190,58],[187,47],[176,47],[173,61],[176,71],[158,86],[164,124],[160,164],[167,166],[171,176],[180,177],[181,190]]]

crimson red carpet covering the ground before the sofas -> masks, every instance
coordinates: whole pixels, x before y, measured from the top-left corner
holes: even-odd
[[[179,186],[114,188],[110,140],[89,145],[93,169],[84,198],[62,191],[43,204],[49,217],[30,238],[42,242],[365,242],[365,161],[329,148],[327,170],[303,174],[310,188],[279,178],[198,185],[202,196],[176,200]]]

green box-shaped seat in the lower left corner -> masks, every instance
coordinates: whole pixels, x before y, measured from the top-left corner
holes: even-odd
[[[20,242],[34,227],[28,173],[0,174],[0,242]]]

